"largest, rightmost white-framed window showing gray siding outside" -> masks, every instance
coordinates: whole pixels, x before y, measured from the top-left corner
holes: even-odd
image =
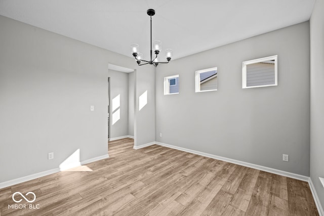
[[[242,88],[278,85],[277,56],[243,62]]]

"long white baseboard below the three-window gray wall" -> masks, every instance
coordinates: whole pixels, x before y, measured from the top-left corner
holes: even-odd
[[[223,161],[226,161],[226,162],[235,163],[235,164],[242,165],[242,166],[251,167],[251,168],[254,168],[254,169],[259,169],[259,170],[270,172],[270,173],[277,174],[277,175],[280,175],[280,176],[285,176],[285,177],[289,177],[289,178],[292,178],[292,179],[298,179],[298,180],[301,180],[301,181],[304,181],[304,182],[308,182],[308,180],[309,180],[309,177],[307,177],[307,176],[302,176],[302,175],[299,175],[299,174],[293,174],[292,172],[282,171],[282,170],[279,170],[279,169],[274,169],[274,168],[270,168],[270,167],[266,167],[266,166],[253,164],[253,163],[234,160],[234,159],[230,159],[230,158],[227,158],[227,157],[221,157],[221,156],[208,154],[208,153],[204,153],[204,152],[199,152],[199,151],[195,151],[195,150],[191,150],[191,149],[186,149],[186,148],[182,148],[182,147],[178,147],[178,146],[173,146],[173,145],[169,145],[169,144],[165,144],[165,143],[155,142],[155,144],[160,145],[160,146],[165,146],[165,147],[168,147],[168,148],[172,148],[172,149],[177,149],[177,150],[180,150],[180,151],[185,151],[185,152],[205,156],[205,157],[214,158],[214,159],[217,159],[217,160],[223,160]]]

